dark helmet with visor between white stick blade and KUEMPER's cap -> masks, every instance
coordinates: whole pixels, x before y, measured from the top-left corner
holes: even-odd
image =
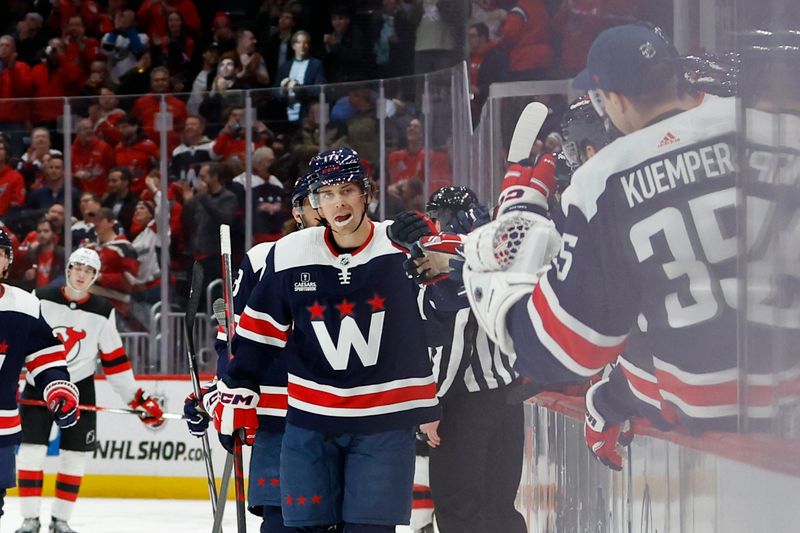
[[[570,104],[561,119],[562,150],[570,168],[581,166],[583,153],[589,145],[599,150],[611,142],[605,120],[597,114],[588,96],[581,96]]]

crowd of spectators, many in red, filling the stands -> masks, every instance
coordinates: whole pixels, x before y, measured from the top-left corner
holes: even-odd
[[[170,235],[172,283],[185,278],[194,260],[210,277],[219,273],[220,223],[232,224],[235,241],[244,242],[248,148],[256,242],[293,231],[288,197],[323,135],[326,146],[355,148],[378,175],[377,86],[331,89],[322,129],[319,85],[430,72],[468,59],[477,117],[491,82],[574,73],[593,36],[637,16],[638,4],[3,2],[0,221],[18,245],[11,282],[29,289],[59,282],[65,239],[72,247],[95,246],[103,259],[98,290],[129,317],[128,326],[144,327],[146,313],[134,311],[158,300],[161,234]],[[432,131],[429,190],[423,184],[417,85],[411,80],[387,91],[388,216],[421,207],[431,191],[452,181],[450,132]],[[249,147],[242,89],[251,90],[256,111]],[[63,146],[64,97],[71,97],[69,147]],[[167,132],[166,176],[159,171],[161,131]],[[71,161],[70,191],[65,160]],[[71,235],[64,235],[66,194]],[[162,202],[168,228],[156,224]],[[371,213],[377,218],[379,212],[376,195]],[[243,251],[240,246],[237,253]]]

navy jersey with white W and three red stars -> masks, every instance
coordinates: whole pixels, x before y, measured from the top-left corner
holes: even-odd
[[[438,418],[417,287],[405,254],[372,223],[367,242],[339,254],[330,230],[275,243],[242,313],[228,375],[259,375],[291,340],[288,422],[318,431],[372,433]]]

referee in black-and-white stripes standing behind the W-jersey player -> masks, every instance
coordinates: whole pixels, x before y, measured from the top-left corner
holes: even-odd
[[[481,210],[465,187],[444,187],[426,206],[440,230],[455,233],[468,233],[475,217],[464,215]],[[442,406],[438,439],[428,443],[439,531],[526,533],[514,507],[525,440],[523,406],[507,401],[517,382],[514,356],[479,327],[460,281],[425,287],[422,311]]]

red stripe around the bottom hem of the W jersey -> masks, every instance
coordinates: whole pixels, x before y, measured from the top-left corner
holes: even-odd
[[[412,402],[414,400],[429,400],[436,395],[436,384],[429,383],[427,385],[400,387],[381,392],[357,394],[355,396],[338,396],[330,392],[310,389],[297,383],[289,383],[288,390],[289,396],[292,398],[313,405],[340,409],[365,409]]]

